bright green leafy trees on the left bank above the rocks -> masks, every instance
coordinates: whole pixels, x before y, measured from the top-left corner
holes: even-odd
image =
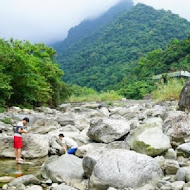
[[[44,44],[0,39],[0,104],[54,106],[68,97],[54,55]]]

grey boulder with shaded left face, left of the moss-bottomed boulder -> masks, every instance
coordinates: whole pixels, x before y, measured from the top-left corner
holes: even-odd
[[[120,139],[129,131],[130,125],[124,119],[96,118],[91,121],[87,135],[96,142],[109,143]]]

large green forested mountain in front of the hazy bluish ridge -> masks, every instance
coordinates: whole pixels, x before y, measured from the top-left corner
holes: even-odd
[[[98,91],[115,89],[123,78],[138,76],[130,73],[139,58],[154,49],[165,49],[174,38],[185,39],[189,31],[190,23],[178,15],[138,4],[121,11],[109,25],[72,43],[58,61],[69,84]]]

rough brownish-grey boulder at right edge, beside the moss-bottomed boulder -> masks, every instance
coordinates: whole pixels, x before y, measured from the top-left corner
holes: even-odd
[[[178,146],[190,141],[190,120],[186,113],[172,111],[168,113],[162,126],[164,133],[170,137],[171,143]]]

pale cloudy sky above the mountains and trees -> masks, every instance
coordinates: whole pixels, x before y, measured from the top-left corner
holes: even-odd
[[[0,38],[32,42],[63,40],[68,30],[95,18],[120,0],[0,0]],[[190,0],[134,0],[190,20]]]

